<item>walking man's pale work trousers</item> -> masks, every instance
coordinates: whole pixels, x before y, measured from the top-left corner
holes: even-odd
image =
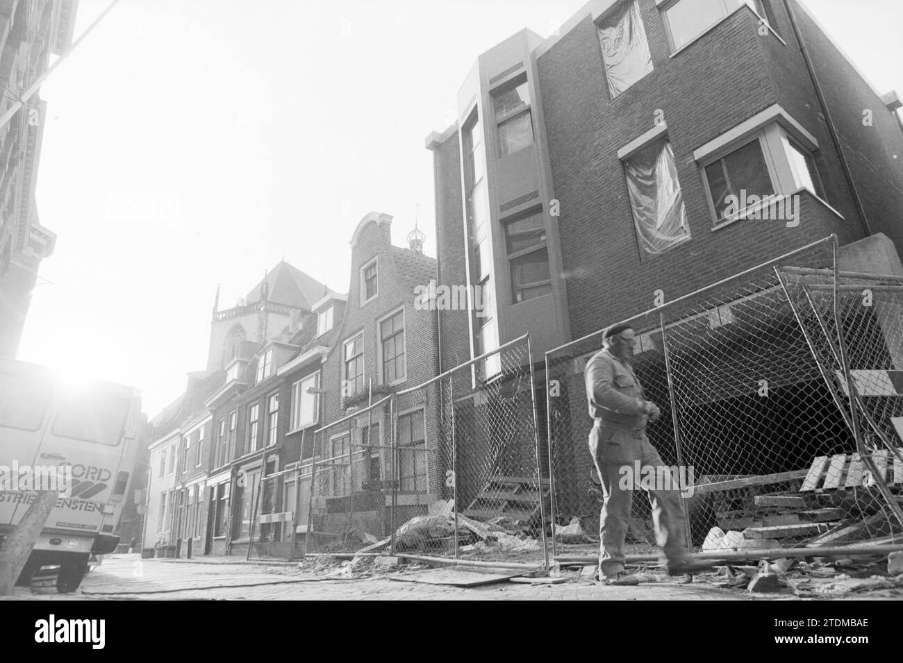
[[[641,486],[636,476],[636,462],[642,467],[664,467],[656,447],[646,433],[596,425],[590,432],[590,453],[599,472],[604,502],[599,518],[600,576],[610,577],[624,570],[624,539],[630,523],[633,491]],[[622,469],[627,468],[627,469]],[[630,474],[628,483],[626,474]],[[661,476],[661,472],[656,472]],[[676,566],[687,556],[684,510],[676,477],[671,490],[659,490],[661,485],[648,488],[652,505],[652,522],[656,542],[662,548],[667,566]],[[628,489],[622,487],[628,483]]]

